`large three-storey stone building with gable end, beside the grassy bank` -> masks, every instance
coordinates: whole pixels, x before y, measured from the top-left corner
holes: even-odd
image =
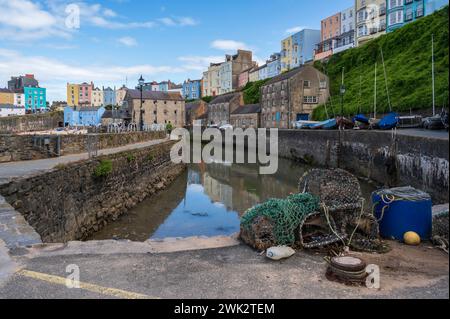
[[[314,67],[305,65],[280,74],[261,87],[261,126],[291,128],[328,98],[328,77]]]

